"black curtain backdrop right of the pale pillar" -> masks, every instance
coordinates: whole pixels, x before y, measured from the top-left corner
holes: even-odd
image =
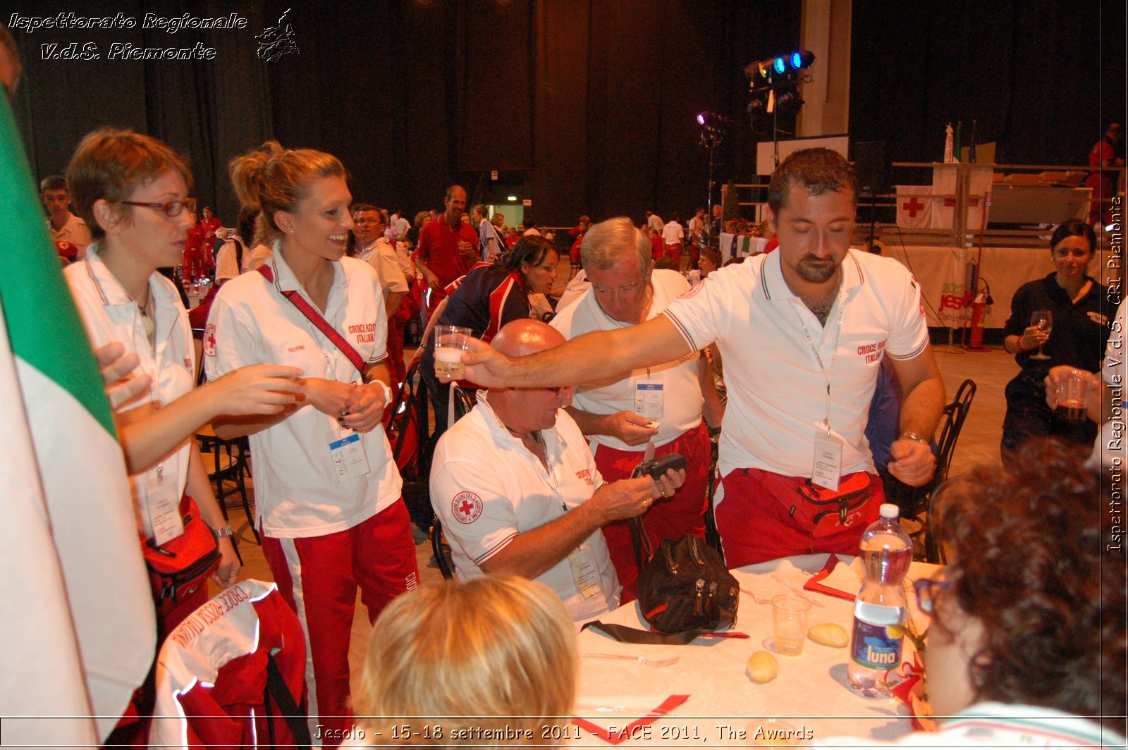
[[[999,164],[1086,165],[1108,118],[1123,115],[1125,8],[855,1],[851,135],[885,141],[895,161],[933,161],[944,125],[962,121],[967,145],[975,120]]]

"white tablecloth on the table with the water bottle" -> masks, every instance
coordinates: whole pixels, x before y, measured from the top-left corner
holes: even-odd
[[[786,593],[787,589],[770,577],[802,586],[809,580],[807,572],[818,572],[827,555],[803,555],[733,571],[741,588],[754,591],[763,599]],[[843,557],[845,562],[853,558]],[[927,576],[934,565],[914,563],[909,577]],[[807,592],[823,605],[812,607],[809,625],[837,623],[851,632],[854,603],[846,599]],[[911,600],[913,597],[909,597]],[[919,630],[927,618],[910,601],[909,611]],[[601,618],[642,627],[637,607],[633,602]],[[637,645],[618,643],[609,637],[584,630],[580,634],[580,653],[611,653],[644,655],[655,659],[679,656],[671,667],[654,669],[642,663],[581,659],[580,692],[575,714],[589,717],[600,726],[619,729],[632,718],[646,714],[670,695],[689,695],[689,699],[668,716],[655,721],[649,732],[626,740],[622,747],[744,747],[741,733],[749,723],[752,729],[758,718],[777,718],[813,733],[813,739],[801,741],[810,744],[820,738],[854,735],[892,740],[913,731],[908,711],[896,698],[867,699],[855,695],[846,679],[849,648],[832,648],[807,639],[799,656],[776,655],[779,673],[770,682],[752,682],[746,672],[746,662],[755,651],[766,650],[772,637],[772,608],[758,605],[741,593],[740,609],[734,630],[747,633],[749,639],[698,638],[686,646]],[[913,646],[906,641],[905,660],[911,660]],[[904,661],[904,660],[902,660]],[[616,708],[599,711],[596,707]],[[632,711],[633,709],[633,711]],[[717,729],[730,727],[730,729]],[[578,727],[571,727],[573,732]],[[610,747],[589,732],[582,732],[573,745]]]

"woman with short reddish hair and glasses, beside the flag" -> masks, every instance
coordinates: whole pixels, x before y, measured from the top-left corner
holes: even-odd
[[[113,342],[140,359],[150,387],[118,408],[117,427],[131,473],[138,530],[161,545],[197,515],[219,542],[213,580],[228,586],[239,561],[193,439],[220,414],[275,414],[297,399],[292,368],[244,369],[201,388],[187,314],[157,268],[180,262],[195,200],[192,173],[167,145],[139,133],[99,130],[79,143],[67,170],[71,198],[90,228],[87,256],[67,281],[91,344]],[[192,500],[195,503],[192,503]],[[199,506],[199,511],[193,510]],[[208,600],[206,586],[164,612],[162,633]]]

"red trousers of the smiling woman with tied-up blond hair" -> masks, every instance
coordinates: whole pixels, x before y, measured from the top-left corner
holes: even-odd
[[[263,555],[306,632],[309,731],[318,724],[350,729],[349,636],[356,588],[371,623],[396,595],[418,585],[407,508],[399,500],[351,529],[321,537],[277,539],[264,532]]]

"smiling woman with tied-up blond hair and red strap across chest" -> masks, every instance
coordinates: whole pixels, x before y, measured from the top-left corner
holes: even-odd
[[[303,402],[218,422],[215,432],[250,435],[263,554],[309,644],[310,730],[320,725],[336,744],[351,726],[358,588],[372,621],[418,582],[403,483],[381,429],[387,314],[372,266],[344,256],[352,195],[336,157],[271,141],[232,160],[230,174],[244,206],[261,210],[258,235],[274,253],[215,295],[208,374],[284,362],[305,372]]]

